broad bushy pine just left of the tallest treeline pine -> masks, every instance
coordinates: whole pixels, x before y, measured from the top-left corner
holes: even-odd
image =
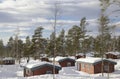
[[[69,29],[66,36],[66,50],[70,55],[75,55],[80,50],[79,39],[81,38],[81,33],[81,28],[79,26],[74,25]]]

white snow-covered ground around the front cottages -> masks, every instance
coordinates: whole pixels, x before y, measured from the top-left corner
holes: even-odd
[[[115,72],[109,74],[109,79],[120,79],[120,60],[115,60]],[[25,61],[22,61],[24,63]],[[100,74],[87,74],[77,71],[76,67],[64,67],[55,75],[55,79],[108,79],[108,74],[104,77]],[[40,75],[32,77],[23,77],[23,68],[19,64],[0,66],[0,79],[53,79],[53,75]]]

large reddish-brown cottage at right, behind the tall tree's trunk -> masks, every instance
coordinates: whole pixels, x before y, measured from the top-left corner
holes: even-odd
[[[102,72],[102,59],[101,58],[80,58],[76,60],[77,70],[83,71],[89,74],[96,74]],[[114,72],[114,66],[117,63],[104,59],[103,60],[103,72]]]

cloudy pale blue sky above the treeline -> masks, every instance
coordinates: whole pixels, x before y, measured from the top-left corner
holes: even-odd
[[[0,39],[6,44],[19,28],[19,38],[32,36],[36,27],[43,26],[43,37],[49,37],[53,31],[54,4],[58,6],[57,34],[61,29],[66,32],[73,25],[79,25],[81,18],[86,17],[89,25],[88,34],[96,35],[96,20],[100,15],[99,0],[0,0]],[[111,6],[110,12],[118,7]],[[120,13],[112,14],[111,21],[118,24],[116,34],[120,33]]]

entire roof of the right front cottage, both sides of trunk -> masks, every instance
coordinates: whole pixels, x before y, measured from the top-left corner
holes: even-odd
[[[87,57],[87,58],[79,58],[76,61],[80,63],[96,64],[96,63],[102,62],[102,58]],[[115,61],[112,61],[109,59],[103,59],[103,61],[117,64]]]

